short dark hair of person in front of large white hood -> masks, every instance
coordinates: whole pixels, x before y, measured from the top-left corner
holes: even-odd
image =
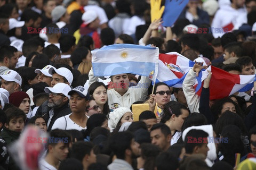
[[[198,140],[198,138],[207,138],[209,136],[208,133],[206,133],[203,130],[196,130],[196,129],[192,129],[190,130],[185,137],[185,149],[186,149],[186,153],[187,154],[192,154],[194,151],[194,148],[196,146],[198,147],[202,147],[204,144],[204,140],[202,140],[202,142],[189,142],[188,138],[196,138]]]

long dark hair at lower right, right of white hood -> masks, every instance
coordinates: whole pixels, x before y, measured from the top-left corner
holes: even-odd
[[[235,125],[227,125],[221,131],[222,138],[227,138],[228,142],[220,142],[219,150],[224,156],[222,161],[235,166],[235,154],[240,153],[243,157],[244,144],[241,139],[241,130]]]

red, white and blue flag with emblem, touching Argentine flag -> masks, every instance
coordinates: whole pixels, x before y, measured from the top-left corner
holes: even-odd
[[[182,82],[187,72],[195,64],[195,62],[176,52],[159,54],[158,63],[156,83],[164,82],[170,87],[177,88],[182,88]]]

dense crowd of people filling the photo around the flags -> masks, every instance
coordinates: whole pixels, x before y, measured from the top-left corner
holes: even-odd
[[[35,155],[17,161],[9,150],[31,126],[47,134],[24,143],[43,146],[31,169],[256,169],[256,81],[215,100],[210,71],[201,96],[194,87],[210,65],[255,74],[256,1],[189,0],[163,27],[150,15],[165,1],[0,1],[1,170],[31,164]],[[113,44],[154,45],[195,64],[180,88],[130,73],[96,77],[91,51]],[[148,104],[138,121],[133,104]]]

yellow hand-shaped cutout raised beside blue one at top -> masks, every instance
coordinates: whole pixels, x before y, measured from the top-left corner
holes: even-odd
[[[150,15],[151,15],[151,22],[158,20],[161,18],[164,12],[164,6],[161,8],[161,0],[150,0]]]

